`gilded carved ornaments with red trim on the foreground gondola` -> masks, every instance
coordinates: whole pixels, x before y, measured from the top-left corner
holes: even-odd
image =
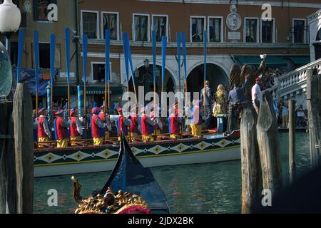
[[[75,199],[80,199],[79,192],[81,185],[76,179],[72,177],[74,182]],[[81,204],[75,211],[75,214],[151,214],[151,209],[148,209],[146,201],[135,194],[130,192],[123,192],[119,190],[117,195],[114,195],[111,188],[108,187],[106,194],[88,197],[86,199],[77,200]]]

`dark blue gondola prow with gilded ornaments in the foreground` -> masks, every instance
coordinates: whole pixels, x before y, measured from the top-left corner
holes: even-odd
[[[143,167],[133,155],[123,134],[116,166],[101,190],[83,199],[80,183],[76,177],[71,177],[71,180],[74,199],[79,203],[76,214],[170,213],[163,190],[151,170]],[[118,194],[114,195],[113,190]]]

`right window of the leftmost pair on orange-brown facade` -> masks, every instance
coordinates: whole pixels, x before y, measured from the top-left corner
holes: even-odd
[[[111,30],[111,40],[118,40],[118,13],[113,12],[102,12],[102,38],[105,38],[105,30]]]

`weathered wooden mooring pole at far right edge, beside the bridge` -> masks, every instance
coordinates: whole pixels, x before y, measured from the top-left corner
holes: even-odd
[[[312,169],[321,165],[321,73],[317,71],[307,70],[307,112]]]

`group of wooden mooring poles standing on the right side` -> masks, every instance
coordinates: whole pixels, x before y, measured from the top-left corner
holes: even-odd
[[[307,71],[307,107],[309,113],[311,169],[321,165],[321,74]],[[284,187],[277,119],[272,95],[265,93],[257,115],[254,108],[245,108],[240,123],[242,213],[257,212],[266,191],[275,197]],[[289,180],[296,180],[295,168],[295,100],[289,101]]]

